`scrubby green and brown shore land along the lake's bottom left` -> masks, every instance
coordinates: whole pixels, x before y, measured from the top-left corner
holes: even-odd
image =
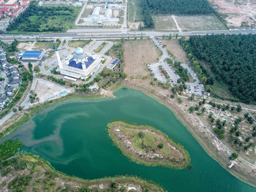
[[[8,141],[8,140],[7,140]],[[22,144],[15,140],[4,142],[1,153],[10,157]],[[5,150],[5,151],[3,151]],[[9,153],[11,151],[11,153]],[[0,161],[1,191],[165,191],[154,183],[138,177],[106,177],[99,180],[82,180],[54,170],[38,155],[23,154]]]

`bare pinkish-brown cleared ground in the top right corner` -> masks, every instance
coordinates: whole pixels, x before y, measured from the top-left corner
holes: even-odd
[[[209,0],[217,12],[224,15],[227,26],[256,26],[256,1],[250,0]]]

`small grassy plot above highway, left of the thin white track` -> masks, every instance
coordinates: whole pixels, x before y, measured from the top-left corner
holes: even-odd
[[[178,31],[171,15],[153,15],[156,30]]]

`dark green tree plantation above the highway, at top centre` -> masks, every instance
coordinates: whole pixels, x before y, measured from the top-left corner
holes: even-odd
[[[207,0],[140,0],[145,28],[154,28],[151,14],[209,14],[216,13]]]

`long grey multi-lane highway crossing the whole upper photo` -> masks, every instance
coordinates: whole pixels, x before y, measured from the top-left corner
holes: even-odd
[[[72,29],[67,33],[56,34],[0,34],[0,39],[56,39],[56,38],[111,38],[111,37],[156,37],[173,34],[175,36],[206,35],[206,34],[256,34],[256,29],[234,29],[217,31],[186,31],[186,32],[163,32],[163,31],[129,31],[122,32],[121,29]]]

